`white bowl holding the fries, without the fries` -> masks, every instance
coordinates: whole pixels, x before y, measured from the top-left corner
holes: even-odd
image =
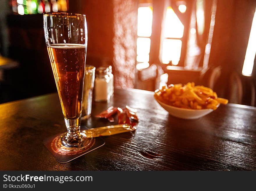
[[[156,99],[156,96],[154,96],[154,98]],[[184,109],[184,108],[170,106],[170,105],[163,103],[159,100],[157,100],[157,102],[166,111],[168,111],[170,115],[172,115],[174,117],[181,118],[181,119],[198,119],[198,118],[203,117],[213,111],[213,109]],[[220,104],[218,104],[218,106],[219,105]]]

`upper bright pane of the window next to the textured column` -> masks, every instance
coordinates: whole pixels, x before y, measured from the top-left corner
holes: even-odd
[[[138,32],[137,35],[141,37],[150,37],[152,33],[152,7],[138,8]]]

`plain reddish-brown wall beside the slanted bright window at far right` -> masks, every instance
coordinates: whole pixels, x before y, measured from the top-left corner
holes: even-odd
[[[255,0],[218,0],[209,65],[242,72]]]

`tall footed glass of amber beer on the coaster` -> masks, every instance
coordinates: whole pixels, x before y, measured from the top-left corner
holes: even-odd
[[[43,18],[45,42],[67,127],[67,133],[60,136],[56,147],[62,151],[77,151],[88,144],[88,138],[80,133],[87,49],[86,17],[45,13]]]

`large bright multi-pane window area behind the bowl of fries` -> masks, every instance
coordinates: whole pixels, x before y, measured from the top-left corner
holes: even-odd
[[[138,8],[137,69],[207,68],[217,1],[141,1],[147,3]]]

